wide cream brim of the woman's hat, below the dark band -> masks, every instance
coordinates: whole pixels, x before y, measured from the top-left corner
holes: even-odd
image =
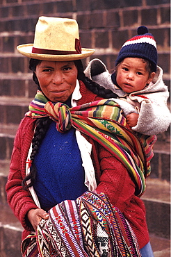
[[[91,56],[95,53],[95,49],[82,48],[79,54],[67,54],[67,55],[52,55],[52,54],[40,54],[32,53],[33,44],[20,44],[17,46],[17,51],[22,53],[23,56],[38,59],[38,60],[54,60],[54,61],[65,61],[65,60],[79,60]]]

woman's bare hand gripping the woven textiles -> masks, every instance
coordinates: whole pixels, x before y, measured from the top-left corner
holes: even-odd
[[[33,229],[36,231],[37,226],[41,219],[48,219],[49,215],[44,210],[38,208],[38,209],[31,209],[27,213],[27,217],[29,219],[29,222],[31,222],[31,225],[33,226]]]

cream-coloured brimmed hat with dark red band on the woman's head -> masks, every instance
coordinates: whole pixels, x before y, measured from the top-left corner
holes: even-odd
[[[81,48],[79,26],[75,19],[39,17],[33,44],[17,46],[19,53],[39,60],[79,60],[91,56],[95,49]]]

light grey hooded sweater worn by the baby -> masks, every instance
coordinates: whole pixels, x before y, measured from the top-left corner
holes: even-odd
[[[113,100],[120,104],[125,116],[129,113],[139,114],[137,125],[132,127],[133,131],[145,135],[156,135],[168,129],[171,122],[171,114],[167,106],[169,92],[168,87],[163,83],[161,67],[157,67],[153,81],[145,89],[127,94],[113,84],[107,69],[101,74],[91,76],[91,62],[85,70],[86,76],[118,95],[119,99]],[[104,67],[106,68],[105,65]]]

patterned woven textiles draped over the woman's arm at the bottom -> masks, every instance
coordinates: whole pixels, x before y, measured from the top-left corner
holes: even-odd
[[[63,201],[51,208],[35,238],[33,249],[38,247],[38,257],[141,256],[129,223],[104,193],[88,191],[76,201]],[[22,243],[22,256],[30,257],[31,246],[26,251],[26,242],[27,238]]]

